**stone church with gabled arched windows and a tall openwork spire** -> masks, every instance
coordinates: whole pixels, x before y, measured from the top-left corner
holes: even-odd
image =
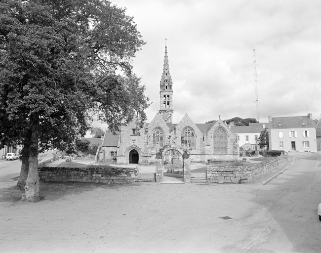
[[[167,164],[180,163],[182,152],[187,152],[193,163],[207,161],[236,161],[240,157],[237,136],[223,121],[195,124],[185,114],[179,123],[173,119],[174,84],[169,73],[167,45],[160,82],[160,110],[150,123],[137,127],[135,120],[121,127],[118,135],[108,129],[100,147],[99,160],[117,164],[149,165],[155,163],[157,153],[168,147],[164,155]],[[212,118],[209,115],[208,118]]]

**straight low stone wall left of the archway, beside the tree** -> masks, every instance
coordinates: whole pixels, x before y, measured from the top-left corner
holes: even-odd
[[[45,182],[134,183],[138,168],[39,168],[40,180]]]

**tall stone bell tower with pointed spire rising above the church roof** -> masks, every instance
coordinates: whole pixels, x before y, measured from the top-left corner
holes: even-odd
[[[173,82],[169,74],[168,56],[167,56],[167,43],[165,42],[165,56],[163,73],[161,75],[160,83],[160,114],[166,123],[173,121]]]

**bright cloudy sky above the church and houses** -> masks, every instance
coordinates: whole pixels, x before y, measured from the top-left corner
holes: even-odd
[[[160,109],[165,38],[173,123],[313,114],[321,118],[320,0],[112,0],[147,42],[133,59]],[[257,82],[255,84],[254,56]]]

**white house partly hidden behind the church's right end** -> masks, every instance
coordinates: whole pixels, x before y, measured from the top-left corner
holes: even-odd
[[[231,130],[238,136],[238,144],[244,150],[255,150],[261,131],[268,127],[268,123],[249,123],[248,126],[231,125]],[[230,124],[229,124],[230,126]],[[258,149],[265,147],[258,147]]]

